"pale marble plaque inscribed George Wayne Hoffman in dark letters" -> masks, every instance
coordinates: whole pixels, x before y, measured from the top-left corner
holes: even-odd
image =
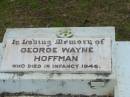
[[[110,38],[6,41],[2,71],[111,72]]]

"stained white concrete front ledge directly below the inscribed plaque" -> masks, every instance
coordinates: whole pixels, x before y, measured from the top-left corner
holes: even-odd
[[[44,95],[106,95],[113,92],[115,84],[114,79],[109,80],[108,77],[87,74],[30,73],[18,75],[4,73],[0,76],[1,93],[6,91],[9,93],[27,92]],[[93,81],[104,82],[104,86],[94,87],[91,85]]]

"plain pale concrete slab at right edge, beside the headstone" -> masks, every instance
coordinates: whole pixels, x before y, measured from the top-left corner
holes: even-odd
[[[115,97],[130,97],[130,42],[116,43]]]

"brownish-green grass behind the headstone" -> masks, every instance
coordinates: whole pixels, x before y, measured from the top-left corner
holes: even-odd
[[[0,41],[10,27],[115,26],[130,40],[130,0],[0,0]]]

